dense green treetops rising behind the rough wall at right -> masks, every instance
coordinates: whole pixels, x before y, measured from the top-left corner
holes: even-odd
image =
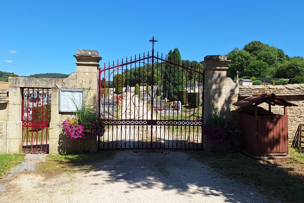
[[[234,48],[227,54],[227,76],[234,78],[236,71],[239,76],[249,77],[280,77],[293,78],[304,75],[302,57],[289,57],[282,49],[260,41],[252,41],[243,49]],[[299,73],[298,73],[299,72]]]

